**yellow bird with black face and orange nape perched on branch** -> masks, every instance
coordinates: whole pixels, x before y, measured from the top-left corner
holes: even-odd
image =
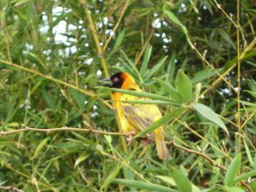
[[[108,80],[104,86],[117,88],[122,90],[141,91],[133,77],[127,72],[117,72]],[[137,97],[129,94],[123,94],[118,91],[112,91],[112,100],[115,102],[115,107],[121,123],[121,131],[123,133],[132,133],[127,137],[128,144],[131,143],[133,134],[143,131],[151,123],[159,120],[162,117],[161,112],[155,104],[132,103],[126,101],[147,101],[149,98]],[[156,128],[153,133],[146,134],[145,143],[155,141],[157,155],[162,160],[170,159],[170,154],[165,144],[165,129],[164,126]]]

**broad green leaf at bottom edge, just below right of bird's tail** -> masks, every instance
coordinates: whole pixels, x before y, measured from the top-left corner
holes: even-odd
[[[181,192],[192,192],[192,186],[191,182],[187,178],[187,176],[184,176],[184,174],[173,167],[172,169],[172,176],[174,177],[176,181],[176,186],[178,187],[179,191]]]

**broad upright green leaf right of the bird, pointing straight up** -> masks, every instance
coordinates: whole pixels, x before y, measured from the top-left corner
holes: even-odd
[[[192,100],[192,83],[182,70],[176,76],[176,90],[186,103]]]

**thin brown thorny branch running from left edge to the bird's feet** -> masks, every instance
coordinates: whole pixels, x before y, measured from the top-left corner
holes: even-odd
[[[39,128],[31,128],[28,126],[23,126],[23,129],[17,129],[12,131],[6,131],[6,132],[0,132],[0,136],[5,136],[7,134],[12,133],[21,133],[21,132],[44,132],[44,133],[51,133],[51,132],[63,132],[63,131],[73,131],[73,132],[91,132],[91,133],[100,133],[100,134],[108,134],[108,135],[123,135],[127,136],[130,133],[115,133],[115,132],[105,132],[100,130],[94,130],[94,129],[80,129],[80,128],[73,128],[73,127],[60,127],[60,128],[50,128],[50,129],[39,129]]]

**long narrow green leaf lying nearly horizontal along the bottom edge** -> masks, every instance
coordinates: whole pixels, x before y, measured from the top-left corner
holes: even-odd
[[[115,179],[112,179],[112,182],[123,185],[123,186],[127,186],[127,187],[136,187],[136,188],[141,188],[141,189],[147,189],[149,191],[177,192],[176,190],[169,188],[169,187],[164,187],[164,186],[160,186],[160,185],[156,185],[156,184],[152,184],[152,183],[146,183],[143,181],[115,178]]]

